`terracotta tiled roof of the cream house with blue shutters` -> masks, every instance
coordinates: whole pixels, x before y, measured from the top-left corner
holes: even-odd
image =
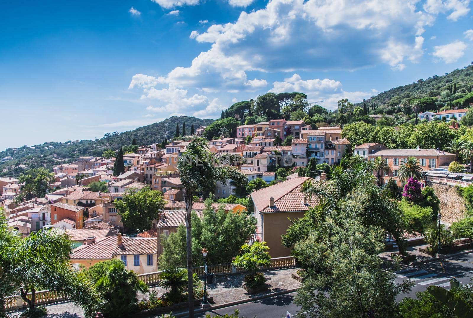
[[[156,254],[158,250],[156,239],[123,236],[122,243],[122,246],[117,246],[117,236],[108,236],[74,249],[70,259],[110,259],[114,255]]]

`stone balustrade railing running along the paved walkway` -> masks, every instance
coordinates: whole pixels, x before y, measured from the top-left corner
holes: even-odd
[[[280,269],[280,268],[290,268],[296,266],[295,258],[292,256],[289,257],[280,257],[280,258],[271,258],[271,263],[269,266],[265,267],[265,270],[268,269]],[[231,274],[232,273],[232,265],[231,264],[220,264],[220,265],[210,265],[207,266],[208,273],[211,274]],[[204,275],[204,267],[198,266],[194,267],[194,273],[199,276]],[[235,272],[241,272],[240,268],[235,268]],[[142,280],[147,285],[157,285],[160,281],[160,274],[163,271],[146,273],[138,275],[138,278]],[[31,295],[29,293],[28,295]],[[66,296],[58,295],[56,292],[52,291],[39,291],[36,292],[36,305],[45,305],[53,302],[64,301],[67,300]],[[20,295],[15,295],[13,297],[5,298],[5,309],[13,310],[19,308],[25,308],[27,304]]]

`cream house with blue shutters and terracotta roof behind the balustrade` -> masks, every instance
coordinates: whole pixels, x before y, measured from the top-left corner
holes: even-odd
[[[128,237],[122,234],[86,241],[74,249],[70,261],[86,268],[107,259],[120,259],[125,268],[137,274],[158,270],[158,242],[156,238]]]

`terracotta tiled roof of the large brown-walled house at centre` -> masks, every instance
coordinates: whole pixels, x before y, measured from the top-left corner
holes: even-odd
[[[301,189],[302,183],[306,180],[311,180],[311,178],[294,177],[271,187],[252,192],[251,198],[256,210],[262,213],[307,211],[317,203],[314,198],[312,202],[307,199],[307,204],[303,202],[304,194]],[[269,206],[271,197],[274,198],[274,206]]]

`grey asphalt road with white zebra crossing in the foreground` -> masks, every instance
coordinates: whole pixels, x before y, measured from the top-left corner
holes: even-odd
[[[452,277],[459,280],[461,284],[472,282],[473,253],[425,263],[396,272],[397,283],[401,283],[404,279],[410,279],[415,284],[412,287],[412,292],[400,294],[397,300],[401,301],[406,296],[414,298],[416,292],[424,291],[430,285],[450,289],[449,281]],[[216,309],[197,314],[196,317],[203,318],[207,314],[210,314],[211,317],[232,314],[235,309],[238,309],[240,317],[245,318],[280,318],[286,316],[286,310],[294,315],[300,309],[294,303],[294,296],[296,294],[296,292],[292,292],[260,301]]]

